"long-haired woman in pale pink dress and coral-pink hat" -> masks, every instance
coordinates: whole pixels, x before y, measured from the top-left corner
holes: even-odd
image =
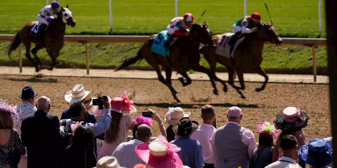
[[[104,156],[111,156],[115,149],[122,142],[127,141],[129,130],[133,130],[135,120],[131,116],[123,116],[136,112],[136,108],[131,106],[133,100],[129,100],[126,91],[122,97],[115,97],[110,102],[111,124],[109,130],[105,132],[104,141],[98,152],[98,159]]]

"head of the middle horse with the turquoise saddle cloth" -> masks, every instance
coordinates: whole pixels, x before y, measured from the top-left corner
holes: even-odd
[[[203,25],[193,24],[190,36],[207,46],[213,46],[212,32],[209,30],[206,22]]]

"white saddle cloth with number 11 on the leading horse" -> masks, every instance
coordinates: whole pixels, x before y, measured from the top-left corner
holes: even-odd
[[[234,33],[225,33],[225,34],[223,34],[221,40],[219,40],[217,42],[217,47],[216,47],[216,50],[215,50],[216,54],[221,55],[221,56],[225,56],[227,58],[230,58],[230,57],[233,58],[234,51],[235,51],[236,47],[245,38],[245,37],[241,37],[238,41],[236,41],[235,45],[234,45],[234,48],[233,48],[233,51],[231,53],[229,53],[231,51],[231,46],[228,45],[228,40],[233,35],[234,35]]]

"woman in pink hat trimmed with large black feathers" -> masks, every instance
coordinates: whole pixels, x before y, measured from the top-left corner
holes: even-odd
[[[278,161],[282,157],[282,150],[278,148],[279,139],[284,135],[294,135],[297,138],[298,145],[301,147],[305,145],[305,135],[302,128],[308,126],[310,117],[306,114],[304,109],[296,107],[287,107],[282,113],[276,116],[274,120],[275,128],[282,130],[278,136],[273,150],[273,162]],[[299,158],[296,160],[299,163]]]

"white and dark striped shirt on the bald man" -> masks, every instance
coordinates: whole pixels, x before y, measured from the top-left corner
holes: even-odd
[[[111,156],[116,157],[121,167],[133,168],[136,164],[145,165],[146,163],[136,153],[136,146],[141,143],[144,142],[138,139],[123,142],[117,146]]]

